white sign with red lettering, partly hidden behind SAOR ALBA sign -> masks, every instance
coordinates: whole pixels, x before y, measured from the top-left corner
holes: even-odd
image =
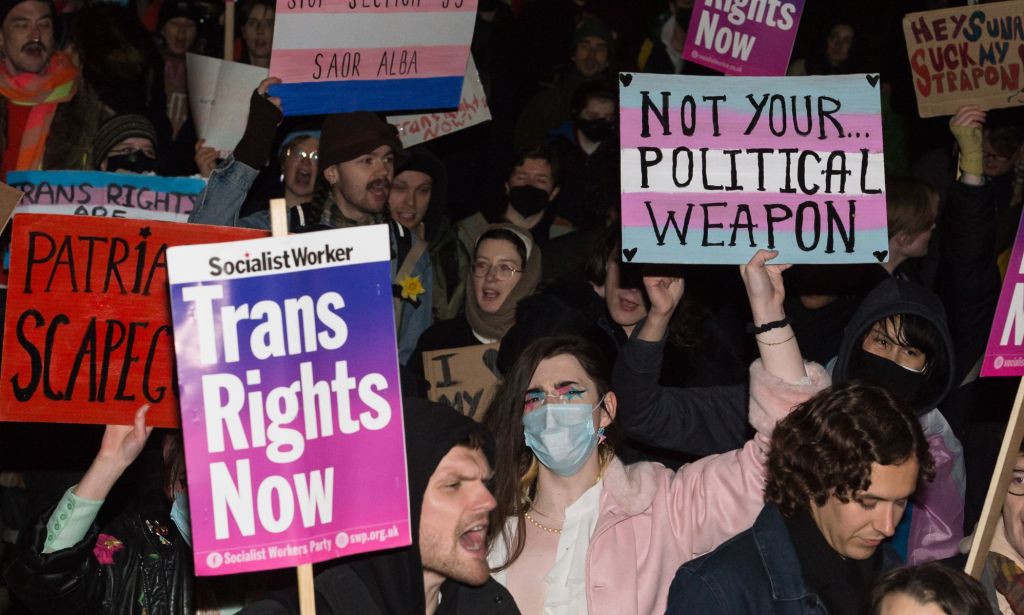
[[[487,106],[487,96],[483,93],[483,84],[480,83],[480,74],[476,72],[476,62],[470,56],[466,65],[466,79],[462,82],[459,108],[443,113],[390,116],[387,121],[398,129],[401,144],[412,147],[463,128],[482,124],[489,119],[490,107]]]

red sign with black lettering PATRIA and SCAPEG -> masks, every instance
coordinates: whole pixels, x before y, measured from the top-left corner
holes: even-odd
[[[167,248],[263,231],[14,216],[0,421],[178,426]]]

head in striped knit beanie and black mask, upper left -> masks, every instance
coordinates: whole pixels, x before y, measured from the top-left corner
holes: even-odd
[[[157,130],[142,116],[116,116],[96,133],[92,168],[97,171],[156,173]]]

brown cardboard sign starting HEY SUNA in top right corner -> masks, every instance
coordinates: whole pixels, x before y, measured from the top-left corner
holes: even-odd
[[[903,36],[922,118],[1024,104],[1024,1],[909,13]]]

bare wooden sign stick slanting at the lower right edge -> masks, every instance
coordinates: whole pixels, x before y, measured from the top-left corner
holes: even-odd
[[[1007,485],[1010,484],[1010,476],[1013,474],[1020,451],[1021,437],[1024,436],[1024,422],[1021,421],[1024,415],[1022,406],[1024,406],[1024,380],[1017,387],[1017,399],[1014,400],[1007,433],[1002,436],[1002,444],[999,446],[995,472],[992,473],[992,480],[988,483],[988,495],[985,497],[985,506],[981,509],[978,529],[974,532],[971,555],[968,556],[967,566],[964,568],[965,572],[978,580],[981,580],[981,573],[985,568],[985,558],[992,544],[996,522],[1002,514],[1002,503],[1007,499]]]

